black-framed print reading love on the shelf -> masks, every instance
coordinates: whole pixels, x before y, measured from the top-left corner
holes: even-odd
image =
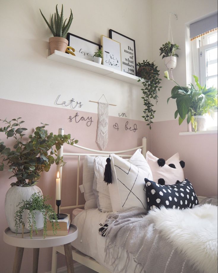
[[[75,49],[74,53],[76,57],[80,57],[89,61],[92,61],[94,53],[98,49],[101,49],[101,45],[69,32],[67,33],[67,40],[68,45]]]

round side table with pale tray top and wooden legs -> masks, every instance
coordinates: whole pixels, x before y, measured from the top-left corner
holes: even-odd
[[[71,251],[71,242],[76,240],[78,236],[78,229],[75,225],[70,225],[70,230],[66,236],[47,236],[43,239],[43,230],[39,230],[38,234],[33,234],[33,239],[30,239],[29,233],[22,234],[12,232],[6,228],[3,234],[3,240],[6,244],[16,247],[15,259],[12,273],[19,273],[23,258],[24,248],[33,248],[33,273],[38,271],[39,249],[43,247],[56,247],[64,245],[64,252],[66,258],[66,266],[68,273],[74,273],[73,257]]]

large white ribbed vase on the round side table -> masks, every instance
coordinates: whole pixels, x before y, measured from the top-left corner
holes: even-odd
[[[41,189],[37,186],[13,186],[7,191],[4,201],[4,211],[8,226],[12,232],[15,232],[15,212],[19,209],[19,207],[17,207],[18,203],[22,202],[22,200],[28,200],[35,192],[40,192],[42,194]],[[23,222],[25,223],[26,221],[27,211],[24,211]],[[29,230],[25,228],[24,233],[27,232],[29,232]],[[18,233],[22,233],[22,226],[18,229]]]

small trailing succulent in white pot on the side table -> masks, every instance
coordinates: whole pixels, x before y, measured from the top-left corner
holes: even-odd
[[[47,236],[47,220],[52,224],[52,230],[54,235],[57,233],[58,218],[57,214],[53,210],[52,206],[45,203],[50,200],[47,195],[43,196],[39,192],[33,193],[28,200],[22,200],[17,204],[19,208],[15,212],[15,231],[16,233],[22,227],[24,230],[25,226],[30,232],[30,238],[33,237],[33,230],[38,233],[38,230],[43,229],[43,238]],[[27,211],[27,221],[23,221],[23,214]]]

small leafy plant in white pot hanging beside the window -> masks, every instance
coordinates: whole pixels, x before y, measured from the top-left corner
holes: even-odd
[[[162,59],[164,59],[164,64],[167,69],[176,68],[176,57],[179,57],[179,55],[175,53],[177,49],[180,49],[179,45],[172,44],[169,41],[159,48],[160,56],[163,54]]]

